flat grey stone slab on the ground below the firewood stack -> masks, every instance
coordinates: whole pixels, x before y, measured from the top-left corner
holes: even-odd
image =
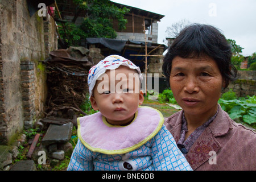
[[[44,146],[49,146],[54,143],[66,143],[71,139],[73,123],[68,122],[64,125],[51,124],[48,127],[46,135],[42,139]]]

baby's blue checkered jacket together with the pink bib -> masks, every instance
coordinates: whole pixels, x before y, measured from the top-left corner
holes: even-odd
[[[77,119],[79,140],[67,170],[192,170],[163,115],[139,106],[127,126],[110,125],[100,112]]]

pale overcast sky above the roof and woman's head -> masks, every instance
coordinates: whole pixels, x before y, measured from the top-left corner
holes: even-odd
[[[222,31],[227,39],[241,46],[242,55],[256,52],[255,0],[111,0],[164,15],[158,22],[158,43],[168,36],[167,27],[188,20],[190,23],[210,24]]]

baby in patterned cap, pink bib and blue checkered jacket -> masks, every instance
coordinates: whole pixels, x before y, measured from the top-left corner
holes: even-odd
[[[139,106],[142,74],[130,60],[111,55],[88,75],[98,113],[77,119],[79,140],[68,170],[192,170],[163,125],[163,115]]]

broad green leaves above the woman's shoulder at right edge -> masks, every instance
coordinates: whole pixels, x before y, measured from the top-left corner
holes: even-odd
[[[223,98],[220,98],[218,103],[221,105],[221,108],[229,114],[230,118],[239,119],[249,125],[255,125],[256,96],[247,97],[247,100],[245,98],[240,98],[240,100],[224,100]]]

